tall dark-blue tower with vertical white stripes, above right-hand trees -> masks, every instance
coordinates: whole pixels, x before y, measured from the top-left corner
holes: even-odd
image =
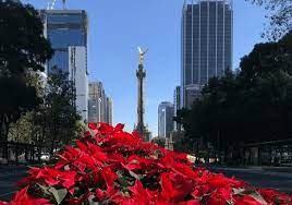
[[[232,0],[196,0],[182,12],[182,107],[190,108],[202,87],[232,68]]]

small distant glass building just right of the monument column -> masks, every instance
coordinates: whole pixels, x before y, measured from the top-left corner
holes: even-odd
[[[169,137],[173,131],[174,107],[169,101],[162,101],[158,106],[158,136]]]

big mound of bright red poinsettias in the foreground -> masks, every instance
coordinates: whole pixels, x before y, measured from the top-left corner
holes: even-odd
[[[122,124],[88,128],[54,166],[32,168],[25,188],[2,204],[292,204],[287,194],[194,168],[186,154],[142,142]]]

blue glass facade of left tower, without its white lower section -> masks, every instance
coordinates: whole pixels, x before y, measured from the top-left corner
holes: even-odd
[[[87,17],[85,11],[71,10],[41,10],[45,24],[45,35],[50,40],[54,50],[47,69],[52,67],[69,72],[69,47],[87,47]]]

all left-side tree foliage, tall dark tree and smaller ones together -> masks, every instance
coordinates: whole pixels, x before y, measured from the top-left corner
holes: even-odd
[[[82,133],[75,88],[64,68],[50,69],[49,76],[42,72],[52,55],[38,11],[16,1],[0,1],[2,158],[10,158],[8,142],[29,143],[52,153]],[[15,155],[24,152],[10,149]]]

